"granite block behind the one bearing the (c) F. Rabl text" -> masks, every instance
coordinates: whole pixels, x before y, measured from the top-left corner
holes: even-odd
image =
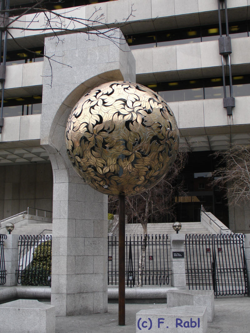
[[[197,305],[207,307],[207,320],[214,318],[214,291],[213,290],[168,290],[167,307],[182,305]]]

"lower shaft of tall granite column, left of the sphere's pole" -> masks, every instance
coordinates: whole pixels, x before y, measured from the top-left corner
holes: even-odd
[[[72,177],[66,168],[52,168],[51,304],[57,316],[106,312],[107,195],[85,184],[72,168]]]

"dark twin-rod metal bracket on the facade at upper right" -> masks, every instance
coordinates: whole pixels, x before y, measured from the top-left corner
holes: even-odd
[[[232,70],[231,70],[231,59],[230,59],[230,54],[232,53],[232,45],[231,45],[231,37],[229,36],[229,30],[228,30],[227,0],[217,0],[217,1],[218,1],[219,29],[220,29],[219,53],[221,55],[223,91],[224,91],[223,107],[227,109],[227,115],[232,116],[233,114],[232,108],[235,107],[235,98],[233,97]],[[221,2],[222,3],[224,2],[224,7],[225,7],[226,36],[222,36],[221,8],[220,8]],[[226,92],[225,66],[228,66],[229,69],[230,97],[227,97],[227,92]]]

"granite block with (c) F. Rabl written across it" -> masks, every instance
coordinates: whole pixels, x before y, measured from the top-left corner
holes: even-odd
[[[141,310],[136,314],[136,333],[206,333],[205,306],[185,305],[174,308]]]

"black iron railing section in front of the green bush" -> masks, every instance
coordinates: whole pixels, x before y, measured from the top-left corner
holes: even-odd
[[[17,283],[48,286],[51,275],[52,236],[21,235]]]

